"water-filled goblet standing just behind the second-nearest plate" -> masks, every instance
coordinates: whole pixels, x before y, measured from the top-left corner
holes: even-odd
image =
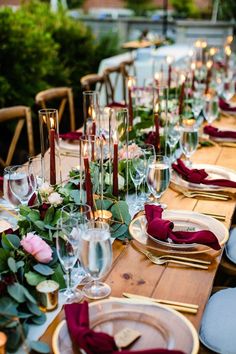
[[[155,198],[155,204],[165,208],[166,205],[160,204],[160,198],[170,183],[170,165],[166,156],[156,155],[150,157],[147,168],[147,185],[150,193]]]

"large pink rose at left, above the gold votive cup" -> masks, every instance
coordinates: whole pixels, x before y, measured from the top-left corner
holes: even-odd
[[[51,247],[41,237],[28,232],[20,241],[24,250],[30,253],[38,262],[49,263],[52,260]]]

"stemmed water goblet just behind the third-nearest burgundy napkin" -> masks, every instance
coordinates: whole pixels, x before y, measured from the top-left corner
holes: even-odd
[[[184,155],[187,158],[186,164],[191,166],[190,157],[196,151],[198,146],[198,127],[183,126],[181,128],[180,145]]]

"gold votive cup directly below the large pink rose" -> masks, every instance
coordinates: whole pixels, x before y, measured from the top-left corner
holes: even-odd
[[[58,306],[59,284],[54,280],[44,280],[36,286],[42,311],[52,311]]]

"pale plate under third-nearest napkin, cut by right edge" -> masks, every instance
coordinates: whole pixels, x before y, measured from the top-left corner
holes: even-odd
[[[223,179],[236,182],[236,171],[226,167],[216,166],[216,165],[206,165],[206,164],[193,164],[191,168],[204,169],[206,173],[208,173],[207,179],[223,178]],[[197,183],[188,182],[185,179],[183,179],[183,177],[180,176],[174,170],[172,171],[171,174],[171,183],[191,190],[210,190],[210,191],[220,191],[220,190],[227,190],[227,189],[232,190],[232,188],[228,188],[228,187],[220,187],[214,185],[206,185],[201,183],[197,184]],[[235,192],[236,192],[236,188],[235,188]]]

